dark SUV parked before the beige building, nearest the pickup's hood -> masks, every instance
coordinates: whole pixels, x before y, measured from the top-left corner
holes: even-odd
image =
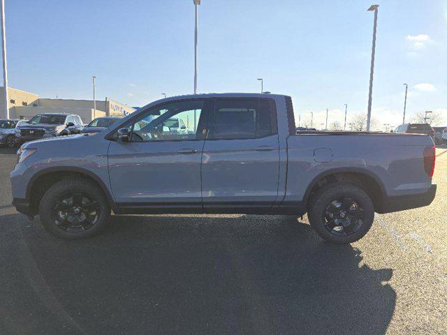
[[[79,134],[82,128],[82,120],[76,114],[38,114],[26,124],[17,126],[15,138],[17,143],[23,143],[46,137]]]

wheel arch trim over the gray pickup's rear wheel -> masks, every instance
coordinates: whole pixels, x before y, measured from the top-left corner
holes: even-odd
[[[308,202],[312,198],[312,194],[323,186],[336,182],[354,184],[360,187],[371,198],[376,211],[380,211],[383,206],[382,202],[383,197],[386,196],[386,191],[379,177],[363,169],[341,168],[322,172],[312,180],[305,193],[304,202],[306,207],[309,205]]]

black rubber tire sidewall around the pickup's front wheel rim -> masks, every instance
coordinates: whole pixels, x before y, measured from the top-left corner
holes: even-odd
[[[54,223],[52,214],[54,205],[61,195],[67,193],[85,193],[89,195],[91,200],[96,200],[98,202],[100,205],[99,218],[91,228],[83,232],[66,232]],[[98,186],[83,179],[64,179],[58,181],[45,192],[41,203],[39,204],[39,216],[45,230],[54,236],[62,239],[84,239],[98,234],[98,232],[101,232],[101,230],[105,228],[105,225],[108,223],[108,218],[110,217],[110,206],[103,191],[99,189]]]

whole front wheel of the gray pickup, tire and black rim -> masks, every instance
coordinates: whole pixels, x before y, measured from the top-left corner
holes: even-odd
[[[50,234],[61,239],[85,239],[105,228],[110,206],[101,188],[91,181],[62,179],[43,195],[39,216]]]

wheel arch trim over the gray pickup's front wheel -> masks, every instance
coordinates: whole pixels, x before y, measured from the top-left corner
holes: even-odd
[[[27,187],[26,199],[29,200],[31,213],[37,214],[40,200],[45,192],[62,179],[83,179],[96,184],[103,191],[108,204],[115,209],[115,200],[103,181],[92,172],[82,168],[48,168],[34,175]]]

